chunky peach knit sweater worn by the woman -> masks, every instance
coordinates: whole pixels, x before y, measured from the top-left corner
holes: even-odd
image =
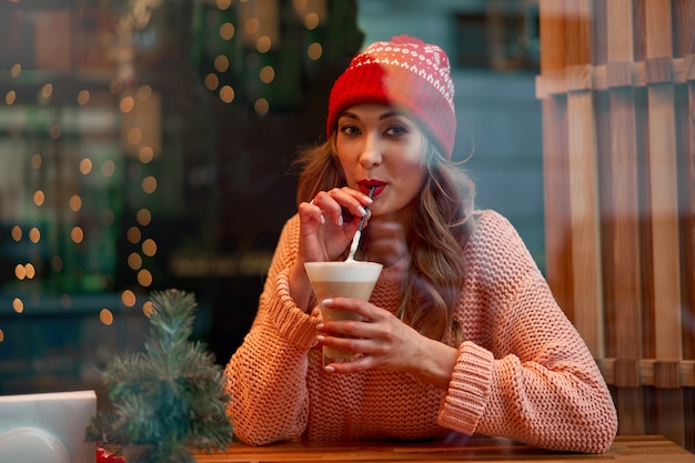
[[[466,341],[446,391],[405,373],[322,370],[319,320],[289,293],[299,239],[299,219],[290,219],[253,325],[225,369],[235,434],[258,445],[300,436],[422,439],[453,431],[552,450],[607,450],[617,417],[588,349],[512,224],[493,211],[475,215],[455,311]],[[395,310],[400,266],[383,270],[371,299],[375,305]]]

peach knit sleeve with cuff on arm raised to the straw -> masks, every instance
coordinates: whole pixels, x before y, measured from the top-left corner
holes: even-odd
[[[308,352],[318,319],[290,296],[298,227],[296,218],[285,224],[251,330],[225,368],[234,433],[252,445],[296,439],[306,427]]]

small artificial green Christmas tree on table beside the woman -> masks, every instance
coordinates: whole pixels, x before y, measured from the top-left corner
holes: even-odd
[[[200,342],[189,341],[195,299],[168,290],[151,296],[144,352],[119,355],[102,372],[113,410],[85,431],[127,463],[194,462],[192,449],[226,449],[232,425],[222,369]]]

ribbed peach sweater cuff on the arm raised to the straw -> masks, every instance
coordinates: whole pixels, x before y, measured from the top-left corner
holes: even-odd
[[[316,345],[316,324],[320,320],[296,305],[290,295],[286,270],[278,275],[275,296],[270,303],[269,314],[278,332],[290,343],[303,350]]]

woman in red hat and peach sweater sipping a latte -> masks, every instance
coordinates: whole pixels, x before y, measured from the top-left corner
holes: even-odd
[[[446,54],[405,36],[366,48],[334,83],[328,141],[300,160],[298,214],[226,366],[244,442],[459,432],[611,445],[615,407],[588,349],[513,227],[474,210],[451,161],[453,93]],[[370,302],[325,302],[361,321],[323,322],[303,264],[344,260],[363,217],[357,260],[384,269]],[[323,368],[322,345],[361,355]]]

